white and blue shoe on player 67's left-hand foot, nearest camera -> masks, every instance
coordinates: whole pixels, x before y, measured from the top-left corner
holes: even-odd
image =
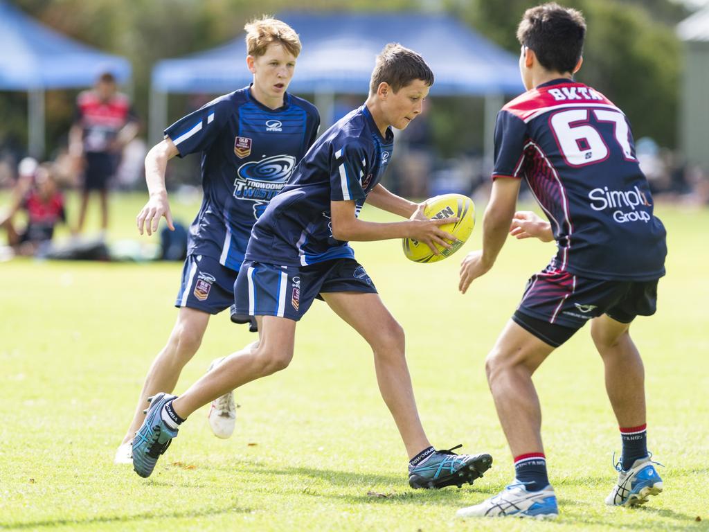
[[[459,509],[456,516],[556,519],[559,507],[551,484],[539,492],[528,492],[525,484],[513,482],[494,497],[475,506]]]

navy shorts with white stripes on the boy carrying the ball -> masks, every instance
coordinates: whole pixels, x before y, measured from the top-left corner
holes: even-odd
[[[376,294],[376,287],[354,259],[335,259],[301,267],[245,260],[235,284],[235,311],[249,316],[300,320],[314,299],[328,292]]]

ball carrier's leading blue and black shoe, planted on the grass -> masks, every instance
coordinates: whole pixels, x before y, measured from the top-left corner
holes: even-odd
[[[408,485],[413,489],[438,489],[446,486],[462,487],[472,484],[490,469],[492,457],[488,454],[457,455],[453,449],[437,450],[415,466],[408,467]]]

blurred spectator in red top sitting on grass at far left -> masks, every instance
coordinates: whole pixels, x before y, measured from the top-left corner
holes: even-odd
[[[64,198],[57,189],[48,163],[38,166],[35,160],[27,157],[20,163],[18,173],[10,205],[0,214],[0,227],[7,231],[8,243],[14,253],[34,255],[39,248],[50,243],[57,223],[66,223]],[[14,223],[18,211],[27,213],[24,228]]]

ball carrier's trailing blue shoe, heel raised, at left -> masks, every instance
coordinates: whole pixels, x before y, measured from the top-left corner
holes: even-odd
[[[133,438],[133,470],[143,478],[150,477],[160,455],[167,450],[177,428],[170,428],[162,421],[162,407],[176,395],[164,392],[148,397],[150,407],[145,411],[145,421]]]

